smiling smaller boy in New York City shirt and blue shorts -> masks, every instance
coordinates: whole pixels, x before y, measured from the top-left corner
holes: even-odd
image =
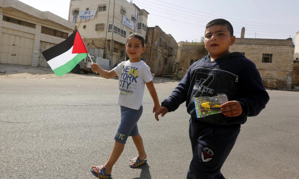
[[[123,152],[129,136],[135,143],[138,156],[133,158],[129,166],[135,168],[147,162],[142,137],[138,132],[137,122],[142,114],[142,98],[146,84],[154,101],[153,112],[160,108],[157,92],[155,90],[149,67],[140,59],[145,51],[145,40],[140,34],[133,33],[128,36],[126,53],[128,61],[118,64],[113,70],[103,70],[98,64],[91,64],[93,72],[104,78],[119,76],[119,95],[117,104],[120,105],[121,119],[115,134],[115,144],[108,161],[104,165],[92,166],[91,173],[97,178],[111,178],[112,167]]]

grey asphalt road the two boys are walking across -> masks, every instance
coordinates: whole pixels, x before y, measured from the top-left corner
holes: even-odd
[[[117,84],[95,76],[1,78],[0,178],[95,178],[89,169],[109,157],[120,119]],[[160,102],[176,85],[155,83]],[[222,167],[228,179],[299,178],[299,92],[267,91],[266,109],[242,125]],[[147,90],[143,106],[138,127],[148,164],[129,168],[137,155],[129,138],[112,177],[186,178],[192,158],[186,107],[155,121]]]

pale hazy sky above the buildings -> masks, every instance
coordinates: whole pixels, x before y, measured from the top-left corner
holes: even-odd
[[[68,19],[69,0],[19,1]],[[158,25],[176,41],[199,41],[205,25],[215,18],[230,21],[237,38],[242,27],[246,29],[245,38],[255,38],[256,33],[256,38],[294,39],[299,31],[299,0],[133,0],[133,3],[150,13],[148,27]]]

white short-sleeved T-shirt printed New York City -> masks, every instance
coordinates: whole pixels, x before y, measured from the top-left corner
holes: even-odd
[[[117,104],[138,110],[142,105],[145,83],[152,81],[152,75],[144,61],[131,63],[122,61],[113,68],[118,75],[119,95]]]

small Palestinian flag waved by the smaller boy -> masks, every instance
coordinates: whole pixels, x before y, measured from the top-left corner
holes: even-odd
[[[65,41],[42,52],[46,61],[57,76],[71,70],[88,55],[85,44],[76,30]]]

